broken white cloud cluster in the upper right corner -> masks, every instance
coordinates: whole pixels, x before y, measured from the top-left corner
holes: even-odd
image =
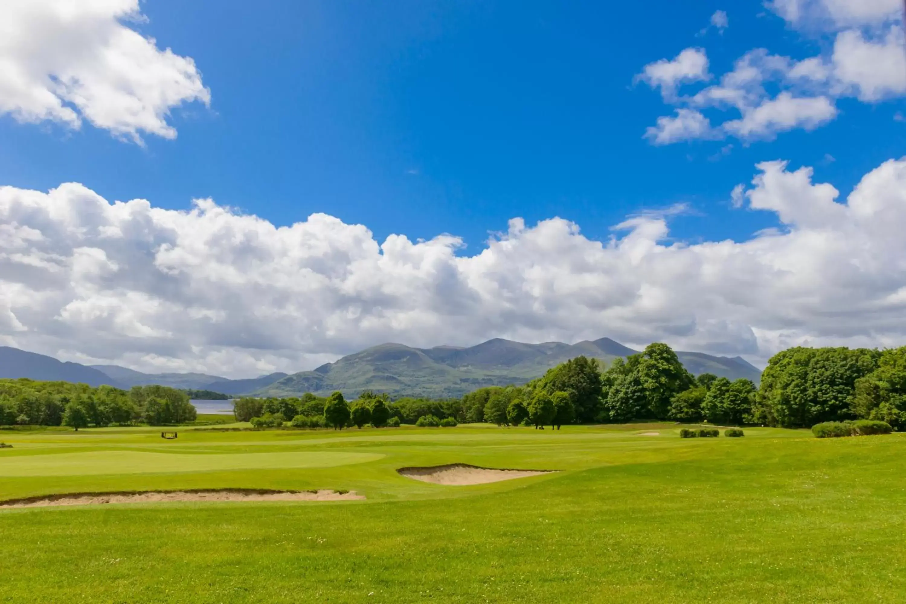
[[[648,82],[652,88],[660,87],[665,102],[678,106],[678,111],[692,110],[698,123],[707,122],[708,128],[680,130],[678,123],[672,131],[685,132],[685,136],[659,137],[656,133],[669,132],[666,127],[678,120],[661,117],[646,130],[646,139],[654,144],[727,136],[744,140],[774,139],[778,132],[814,129],[834,120],[836,99],[854,97],[859,101],[878,102],[906,95],[906,48],[899,21],[900,0],[775,0],[768,5],[795,28],[814,30],[826,36],[828,42],[833,38],[833,44],[827,44],[833,51],[795,60],[764,48],[754,49],[741,56],[718,83],[687,96],[676,94],[676,87],[671,83],[674,80],[667,76],[684,72],[680,65],[689,61],[681,62],[680,57],[705,57],[703,49],[687,48],[673,61],[662,59],[649,63],[636,76],[637,80]],[[705,61],[707,72],[707,58]],[[663,81],[649,74],[653,68],[667,74]],[[766,89],[766,83],[771,84],[771,92]],[[715,120],[716,125],[712,127],[702,110],[737,110],[740,117]]]

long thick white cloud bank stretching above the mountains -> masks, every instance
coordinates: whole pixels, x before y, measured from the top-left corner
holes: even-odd
[[[654,213],[602,243],[560,218],[516,218],[462,255],[455,236],[380,243],[323,214],[277,227],[211,200],[174,211],[73,183],[3,187],[0,341],[235,376],[388,340],[608,335],[754,359],[803,342],[903,343],[906,159],[872,170],[845,203],[783,162],[760,164],[732,197],[778,228],[686,244],[670,240],[669,213]]]

